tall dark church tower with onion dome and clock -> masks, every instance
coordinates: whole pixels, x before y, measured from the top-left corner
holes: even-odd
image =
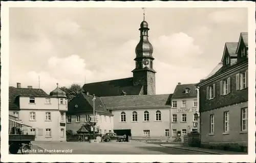
[[[155,95],[156,94],[156,71],[153,69],[153,46],[148,41],[148,24],[144,19],[140,24],[140,41],[136,46],[134,59],[135,69],[133,72],[134,85],[143,85],[143,95]]]

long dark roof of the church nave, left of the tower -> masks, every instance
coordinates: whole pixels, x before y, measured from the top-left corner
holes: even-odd
[[[116,79],[83,85],[84,91],[89,91],[91,95],[97,97],[120,96],[122,91],[126,95],[139,95],[142,85],[134,86],[133,78]]]

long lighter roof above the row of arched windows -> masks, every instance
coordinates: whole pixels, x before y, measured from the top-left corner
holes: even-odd
[[[169,107],[172,94],[101,97],[110,110],[148,107]]]

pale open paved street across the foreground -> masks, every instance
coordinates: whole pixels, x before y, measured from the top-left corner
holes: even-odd
[[[140,142],[110,142],[110,143],[82,143],[82,142],[34,142],[31,154],[208,154],[161,147],[156,144]],[[38,152],[38,149],[44,149]],[[46,150],[66,150],[46,151]],[[68,151],[70,150],[70,151]],[[72,150],[72,151],[71,151]],[[48,153],[52,152],[52,153]]]

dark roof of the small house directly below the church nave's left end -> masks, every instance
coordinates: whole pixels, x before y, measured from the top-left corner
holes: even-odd
[[[94,108],[96,113],[113,115],[106,109],[99,97],[95,97]],[[93,114],[93,96],[81,93],[68,103],[67,114],[75,114],[81,112]]]

